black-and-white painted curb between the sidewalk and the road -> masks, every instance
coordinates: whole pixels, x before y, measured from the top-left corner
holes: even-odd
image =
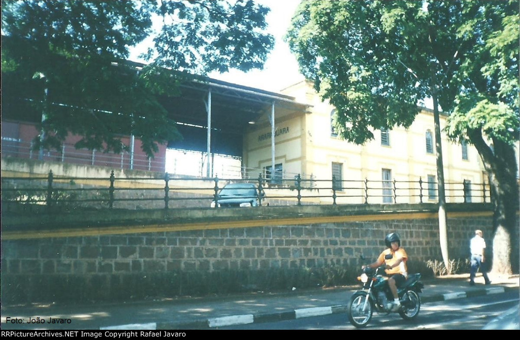
[[[518,290],[517,287],[490,287],[471,291],[462,291],[448,294],[437,294],[431,296],[422,296],[422,303],[439,302],[454,300],[458,298],[467,298],[480,295],[490,295],[504,293],[506,290]],[[199,319],[190,322],[151,322],[151,323],[136,323],[125,325],[114,325],[110,327],[102,327],[100,330],[203,330],[217,327],[250,324],[261,322],[276,322],[285,320],[295,320],[300,318],[307,318],[313,316],[322,316],[329,314],[339,314],[347,311],[347,305],[336,305],[328,307],[313,307],[294,309],[290,311],[268,313],[268,314],[244,314],[233,315],[218,318]]]

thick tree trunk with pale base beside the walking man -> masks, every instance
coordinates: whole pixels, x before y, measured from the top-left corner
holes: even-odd
[[[491,272],[518,273],[518,166],[513,146],[493,140],[491,148],[482,138],[482,131],[469,134],[486,169],[493,205],[493,259]],[[488,241],[489,243],[489,241]]]

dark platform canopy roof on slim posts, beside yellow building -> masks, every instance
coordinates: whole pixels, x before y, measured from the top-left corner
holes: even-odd
[[[281,110],[305,113],[310,105],[296,102],[294,97],[226,81],[202,78],[181,85],[179,97],[164,97],[164,105],[184,140],[172,142],[171,148],[207,151],[207,126],[211,92],[211,152],[231,156],[242,155],[243,135],[262,115]]]

